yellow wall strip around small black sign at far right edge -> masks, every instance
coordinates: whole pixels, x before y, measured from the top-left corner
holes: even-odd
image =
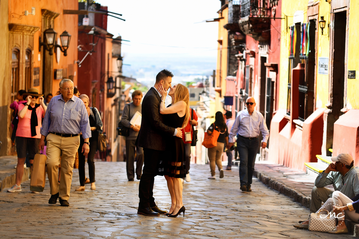
[[[348,109],[359,109],[359,61],[357,57],[359,48],[359,4],[358,1],[350,1],[349,6],[349,28],[348,28],[348,70],[356,70],[356,79],[347,79],[346,107]],[[348,74],[346,73],[348,76]]]

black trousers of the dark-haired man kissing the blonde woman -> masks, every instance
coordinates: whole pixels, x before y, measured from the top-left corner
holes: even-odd
[[[158,160],[163,157],[164,151],[143,148],[144,166],[139,185],[140,203],[138,208],[149,208],[156,206],[153,197],[153,183],[158,174]]]

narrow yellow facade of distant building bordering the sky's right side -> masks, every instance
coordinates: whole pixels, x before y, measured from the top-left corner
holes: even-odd
[[[223,26],[228,23],[228,8],[219,14],[219,17],[224,17],[218,24],[218,40],[222,40],[222,46],[218,43],[218,55],[217,55],[217,69],[216,69],[216,84],[219,86],[219,81],[222,79],[222,84],[219,86],[222,88],[222,96],[225,95],[227,77],[227,47],[228,47],[228,32]],[[222,47],[222,61],[221,61],[221,47]],[[221,67],[222,64],[222,67]],[[221,69],[221,70],[220,70]],[[216,93],[216,111],[223,111],[222,101],[223,97],[219,97],[219,93]]]

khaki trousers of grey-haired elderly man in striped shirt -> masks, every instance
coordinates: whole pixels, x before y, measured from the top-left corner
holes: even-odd
[[[62,200],[69,200],[75,155],[80,145],[80,136],[62,137],[49,133],[46,137],[46,170],[51,195],[59,192]],[[62,153],[62,154],[61,154]],[[61,157],[61,180],[57,182]],[[60,187],[60,189],[59,189]]]

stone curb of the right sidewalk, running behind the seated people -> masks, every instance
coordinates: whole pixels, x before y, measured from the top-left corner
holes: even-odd
[[[298,192],[295,189],[288,187],[287,185],[273,180],[268,177],[264,172],[254,170],[253,175],[259,179],[263,184],[267,185],[270,189],[279,191],[281,194],[284,194],[288,197],[294,199],[294,201],[302,204],[306,208],[311,207],[311,197],[307,197],[304,194]],[[359,238],[359,224],[354,223],[353,221],[345,220],[345,225],[349,230],[351,235],[354,235],[356,238]]]

